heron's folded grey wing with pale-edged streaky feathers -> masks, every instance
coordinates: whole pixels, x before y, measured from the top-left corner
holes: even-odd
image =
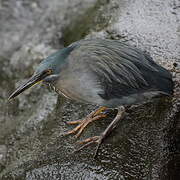
[[[81,40],[72,44],[77,51],[73,56],[86,63],[101,84],[104,99],[121,98],[130,94],[158,90],[159,71],[165,78],[169,73],[143,51],[119,41]]]

